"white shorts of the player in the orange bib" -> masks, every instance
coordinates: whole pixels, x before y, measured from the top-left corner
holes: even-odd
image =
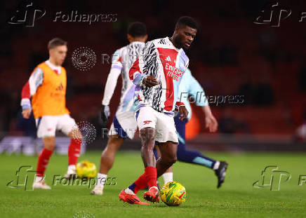
[[[42,116],[36,118],[37,137],[55,136],[56,130],[61,130],[65,135],[68,135],[73,128],[76,128],[74,118],[69,114],[58,116]]]

